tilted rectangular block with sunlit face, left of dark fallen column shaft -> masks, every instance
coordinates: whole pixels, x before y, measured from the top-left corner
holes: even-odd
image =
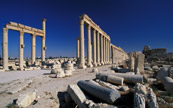
[[[75,103],[78,104],[79,108],[87,108],[84,104],[87,98],[77,85],[68,85],[67,92],[70,94]]]

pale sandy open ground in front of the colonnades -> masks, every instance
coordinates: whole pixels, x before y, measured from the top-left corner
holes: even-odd
[[[110,65],[106,65],[98,67],[98,70],[106,71],[110,70],[110,67]],[[66,91],[69,84],[76,84],[79,80],[94,79],[95,73],[92,73],[91,70],[92,68],[76,69],[71,77],[66,78],[52,78],[49,74],[50,70],[1,72],[0,108],[5,108],[8,104],[12,103],[14,99],[17,99],[20,94],[33,91],[36,91],[39,97],[38,102],[35,105],[30,105],[28,108],[59,108],[57,94]],[[25,89],[14,94],[6,92],[10,87],[17,87],[24,80],[28,79],[32,79],[33,82]]]

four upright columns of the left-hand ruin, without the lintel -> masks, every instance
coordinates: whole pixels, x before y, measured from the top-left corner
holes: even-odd
[[[46,19],[43,19],[43,31],[44,36],[42,37],[42,61],[45,61],[45,27]],[[32,34],[32,64],[35,63],[35,51],[36,51],[36,35]],[[3,28],[3,68],[8,70],[8,28]],[[19,31],[19,68],[23,70],[24,61],[24,32]]]

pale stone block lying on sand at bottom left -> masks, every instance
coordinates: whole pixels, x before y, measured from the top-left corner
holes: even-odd
[[[36,99],[36,92],[28,92],[26,94],[22,94],[17,99],[16,104],[19,107],[27,107]]]

